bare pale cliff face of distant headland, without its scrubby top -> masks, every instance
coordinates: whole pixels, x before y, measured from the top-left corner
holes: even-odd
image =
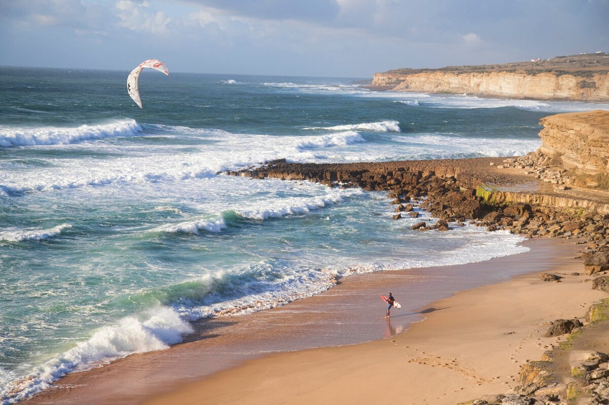
[[[569,99],[607,101],[609,74],[593,74],[585,79],[551,72],[452,72],[430,70],[413,74],[375,73],[373,86],[392,85],[393,91],[423,93],[478,94],[516,99]]]

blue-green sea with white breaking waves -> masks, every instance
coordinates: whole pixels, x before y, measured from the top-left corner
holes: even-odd
[[[384,193],[222,174],[264,161],[524,155],[538,121],[609,105],[370,91],[353,79],[0,68],[0,398],[167,348],[206,317],[337,276],[523,252],[392,220]],[[424,214],[424,213],[423,213]]]

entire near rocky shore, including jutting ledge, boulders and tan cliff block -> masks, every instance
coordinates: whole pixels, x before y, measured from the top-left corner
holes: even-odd
[[[413,225],[417,231],[450,231],[469,221],[487,231],[509,230],[527,238],[573,239],[580,246],[583,272],[591,277],[584,281],[609,293],[609,111],[557,114],[541,124],[541,148],[518,158],[342,164],[278,160],[226,174],[385,191],[395,206],[393,220],[418,217],[415,207],[437,218],[435,224]],[[566,275],[540,276],[560,283]],[[597,350],[609,345],[609,298],[594,303],[581,319],[548,325],[546,337],[568,337],[541,361],[527,361],[518,386],[505,395],[460,405],[609,404],[609,350]],[[590,338],[594,334],[596,340]]]

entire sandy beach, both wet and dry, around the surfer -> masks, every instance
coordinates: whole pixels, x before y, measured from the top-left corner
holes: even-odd
[[[505,384],[511,381],[518,365],[524,361],[519,359],[519,363],[512,362],[512,354],[491,359],[487,357],[490,353],[482,350],[481,356],[474,356],[479,357],[477,360],[457,360],[459,365],[454,367],[444,367],[439,364],[440,361],[430,357],[431,360],[427,362],[431,365],[437,362],[438,367],[428,366],[422,370],[415,367],[417,362],[407,361],[423,355],[413,348],[414,342],[421,347],[435,342],[435,353],[438,356],[441,354],[442,359],[446,358],[446,364],[452,364],[452,357],[460,357],[457,354],[461,347],[464,350],[471,345],[480,348],[476,344],[476,336],[471,336],[474,332],[468,331],[469,327],[475,326],[474,331],[479,331],[477,334],[481,344],[483,340],[488,340],[487,334],[491,333],[503,339],[496,343],[491,340],[491,348],[499,345],[502,350],[510,351],[532,333],[529,329],[539,328],[540,322],[567,316],[561,315],[561,311],[568,311],[569,317],[582,316],[585,309],[581,306],[581,300],[577,301],[577,305],[571,300],[563,300],[560,305],[565,308],[561,309],[555,308],[554,304],[538,305],[537,297],[530,299],[530,294],[541,294],[537,290],[523,292],[524,297],[521,296],[523,294],[512,294],[515,283],[524,283],[524,287],[530,284],[532,288],[541,289],[543,294],[550,296],[564,286],[574,287],[571,288],[574,292],[569,290],[568,294],[580,294],[580,298],[591,296],[590,283],[582,283],[583,277],[573,277],[576,280],[568,283],[543,283],[537,276],[540,272],[560,266],[563,266],[560,267],[563,272],[576,271],[569,269],[582,271],[580,261],[568,259],[576,255],[579,250],[577,246],[555,239],[534,239],[524,244],[531,248],[530,252],[459,266],[354,275],[343,278],[337,286],[323,294],[280,308],[198,322],[195,333],[188,336],[185,343],[169,350],[134,354],[90,371],[71,373],[55,382],[51,389],[24,403],[320,403],[330,400],[338,403],[373,403],[373,398],[363,393],[353,397],[350,395],[359,392],[356,388],[367,392],[378,390],[380,393],[387,385],[396,390],[396,394],[400,393],[402,398],[410,398],[404,395],[412,392],[413,386],[422,384],[418,379],[423,378],[428,384],[435,381],[435,384],[444,386],[447,378],[452,381],[449,378],[452,375],[460,377],[450,382],[445,387],[447,390],[461,391],[460,386],[465,384],[462,381],[465,379],[465,385],[470,384],[470,380],[479,381],[485,387],[485,393],[490,387],[500,387],[498,392],[504,392],[507,390]],[[529,275],[506,282],[523,273]],[[501,274],[499,279],[497,274]],[[476,288],[498,282],[501,283]],[[465,289],[468,291],[443,299]],[[490,292],[485,292],[487,289],[491,289]],[[388,321],[383,318],[385,305],[377,292],[389,291],[400,301],[402,309],[393,310]],[[470,302],[471,297],[476,297],[473,302]],[[474,307],[485,307],[487,301],[498,297],[504,298],[504,303],[493,311],[507,318],[498,318],[490,323],[484,319],[484,314],[473,311]],[[551,301],[551,297],[539,298]],[[470,306],[463,305],[463,300],[469,302],[471,312]],[[420,303],[427,304],[421,307]],[[523,313],[527,316],[523,317]],[[516,320],[512,317],[516,317]],[[425,318],[428,320],[416,323]],[[522,320],[526,320],[525,325],[518,323]],[[462,333],[450,332],[456,323],[464,328]],[[409,326],[407,333],[398,336]],[[515,333],[505,334],[512,331]],[[392,339],[379,340],[387,337]],[[370,340],[376,342],[353,345]],[[334,347],[338,345],[342,347]],[[406,346],[410,348],[405,350]],[[316,347],[326,348],[299,351]],[[395,350],[400,349],[400,356],[394,356],[398,354],[392,353],[394,347]],[[379,350],[382,353],[378,358],[376,354],[371,354]],[[424,350],[426,354],[421,358],[429,356],[428,350]],[[443,353],[445,350],[447,353]],[[537,359],[543,350],[546,349],[536,344],[520,353],[527,353],[530,356],[527,358]],[[291,353],[276,353],[281,351]],[[330,359],[334,374],[325,371]],[[388,379],[386,373],[380,371],[385,367],[385,362],[389,362],[392,368],[401,369],[406,364],[414,367],[414,375],[410,370],[400,377],[403,382],[396,386],[395,377]],[[495,372],[498,367],[501,371]],[[298,373],[308,374],[300,376]],[[371,381],[365,380],[361,386],[350,379],[343,381],[342,376],[349,373],[364,373],[364,377]],[[339,380],[343,386],[336,385]],[[373,381],[378,385],[370,385]],[[267,389],[268,384],[272,388]],[[275,387],[273,384],[279,385]],[[279,396],[273,394],[277,390]],[[433,392],[436,390],[432,389]],[[416,391],[420,392],[419,389]],[[466,393],[469,395],[470,390]],[[341,398],[345,401],[341,401]],[[430,398],[429,395],[424,398],[413,396],[414,400],[430,401]]]

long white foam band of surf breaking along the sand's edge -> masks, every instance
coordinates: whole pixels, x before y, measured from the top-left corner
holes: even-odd
[[[244,211],[242,214],[265,218],[272,217],[275,213],[282,215],[283,212],[270,209],[267,212]],[[199,298],[208,297],[209,303],[197,304],[196,300],[199,298],[196,296],[170,297],[170,300],[175,301],[175,304],[167,303],[171,306],[153,308],[148,315],[125,317],[114,325],[104,326],[93,333],[90,339],[78,343],[76,347],[36,367],[29,375],[5,385],[4,390],[0,392],[0,397],[3,398],[2,404],[13,404],[40,392],[71,371],[107,364],[133,353],[167,348],[171,344],[180,342],[184,334],[192,332],[187,321],[214,316],[244,315],[285,305],[290,301],[325,291],[334,285],[337,276],[379,270],[465,264],[528,250],[518,245],[524,240],[521,236],[509,234],[507,231],[488,234],[471,225],[457,227],[451,233],[442,234],[441,237],[462,238],[463,236],[473,238],[472,242],[476,245],[476,249],[472,249],[468,244],[458,250],[452,250],[450,255],[436,255],[434,259],[424,256],[410,260],[385,258],[382,262],[362,262],[361,258],[356,258],[356,262],[361,264],[345,267],[349,261],[338,262],[337,269],[311,269],[304,273],[294,269],[283,269],[282,276],[276,280],[269,279],[265,275],[269,270],[273,270],[272,263],[262,263],[245,272],[220,271],[202,276],[199,280],[194,280],[198,287],[193,287],[191,281],[186,291],[192,294],[194,289]],[[342,269],[339,270],[341,267]],[[244,280],[247,282],[244,283]],[[224,293],[218,295],[219,291]],[[237,298],[228,298],[226,291],[231,291],[231,294]]]

